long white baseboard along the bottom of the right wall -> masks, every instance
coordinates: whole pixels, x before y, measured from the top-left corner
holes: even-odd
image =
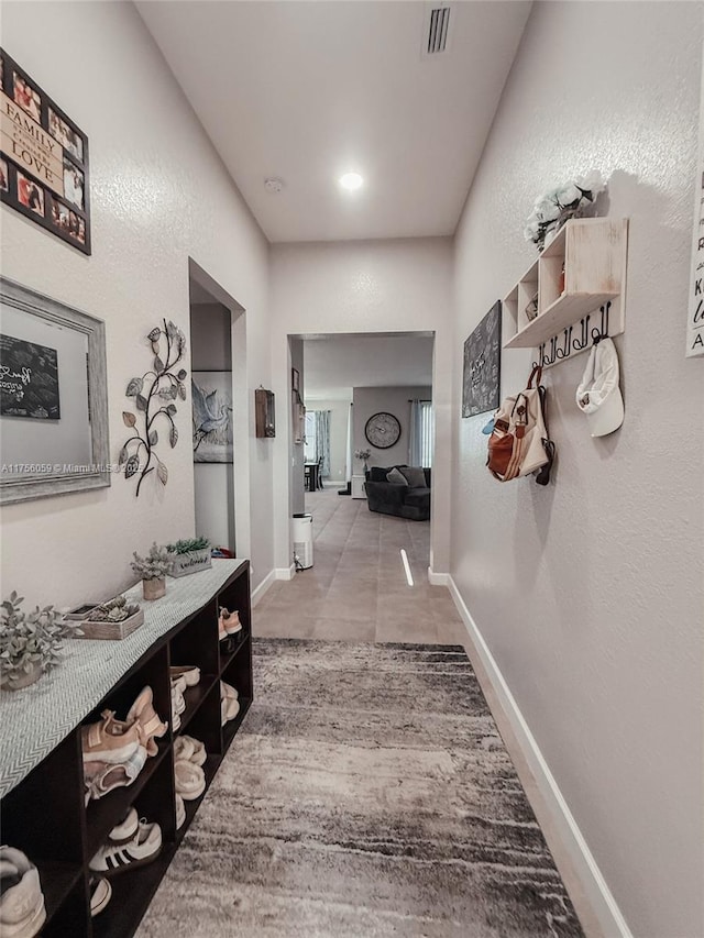
[[[494,655],[490,651],[476,622],[472,618],[472,614],[465,606],[454,580],[450,574],[432,575],[447,575],[447,585],[450,588],[450,594],[454,600],[454,605],[464,621],[466,630],[470,633],[470,638],[472,639],[499,703],[504,708],[508,721],[510,722],[512,729],[522,750],[530,771],[532,772],[548,808],[556,820],[556,826],[560,832],[562,842],[572,859],[575,872],[580,878],[584,892],[592,904],[592,908],[600,920],[604,934],[608,938],[632,938],[632,934],[626,924],[626,919],[624,918],[616,900],[612,895],[612,892],[606,884],[606,880],[602,875],[596,860],[592,856],[586,840],[584,839],[582,831],[580,830],[578,823],[562,795],[562,792],[558,787],[558,783],[550,771],[550,766],[546,762],[536,738],[530,731],[530,727],[526,722],[526,719],[521,714],[518,704],[516,703],[514,695],[512,694],[510,688],[494,659]],[[430,576],[431,572],[428,571],[428,577],[430,578]],[[430,580],[430,582],[432,583],[433,581]]]

